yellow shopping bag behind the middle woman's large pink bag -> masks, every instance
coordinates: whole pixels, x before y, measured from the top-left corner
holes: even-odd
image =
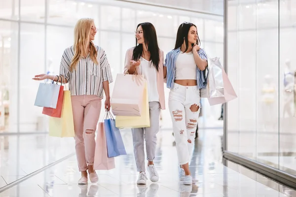
[[[148,103],[148,90],[147,83],[145,84],[143,93],[143,103],[142,103],[142,115],[141,116],[116,116],[115,126],[118,129],[122,128],[144,128],[150,127],[150,117],[149,117],[149,103]]]

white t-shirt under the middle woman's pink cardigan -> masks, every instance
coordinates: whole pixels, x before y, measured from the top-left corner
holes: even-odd
[[[157,92],[157,70],[152,62],[141,57],[140,72],[140,74],[143,74],[145,79],[147,79],[149,102],[159,101]]]

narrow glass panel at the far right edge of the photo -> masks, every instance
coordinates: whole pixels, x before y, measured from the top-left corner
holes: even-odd
[[[280,1],[280,169],[296,175],[296,121],[294,114],[294,74],[296,70],[296,1]]]

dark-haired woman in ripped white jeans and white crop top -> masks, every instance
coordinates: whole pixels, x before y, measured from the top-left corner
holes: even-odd
[[[207,55],[199,47],[197,28],[184,22],[177,33],[175,49],[166,55],[164,76],[170,88],[169,110],[180,163],[180,180],[192,184],[189,158],[194,147],[195,131],[200,111],[199,89],[205,88],[203,70],[208,66]]]

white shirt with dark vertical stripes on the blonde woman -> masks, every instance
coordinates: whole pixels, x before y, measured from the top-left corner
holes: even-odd
[[[72,71],[70,65],[74,57],[74,46],[65,49],[61,60],[60,75],[69,82],[72,96],[96,95],[103,98],[103,81],[113,81],[110,65],[103,48],[96,46],[99,64],[94,63],[90,56],[80,58]]]

